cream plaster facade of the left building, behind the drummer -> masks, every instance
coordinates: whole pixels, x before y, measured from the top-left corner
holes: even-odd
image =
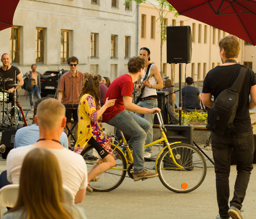
[[[0,53],[11,54],[23,73],[69,69],[76,56],[82,72],[111,80],[127,73],[135,54],[136,4],[123,0],[20,0],[13,28],[0,32]]]

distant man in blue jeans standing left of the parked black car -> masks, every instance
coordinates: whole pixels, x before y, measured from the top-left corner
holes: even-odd
[[[24,76],[24,89],[26,89],[27,94],[29,95],[29,102],[31,106],[31,110],[34,110],[34,94],[38,99],[41,98],[41,84],[40,78],[49,78],[56,76],[56,74],[51,73],[47,76],[36,71],[36,64],[31,64],[32,71],[28,71]]]

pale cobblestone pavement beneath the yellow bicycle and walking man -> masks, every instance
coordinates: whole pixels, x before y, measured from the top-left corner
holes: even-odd
[[[20,98],[21,105],[29,106],[29,101]],[[29,111],[29,118],[33,115]],[[205,150],[207,151],[207,150]],[[211,155],[211,151],[207,151]],[[212,157],[212,156],[211,156]],[[153,162],[146,162],[152,166]],[[87,211],[88,219],[93,218],[171,218],[214,219],[218,215],[215,195],[215,173],[212,164],[207,161],[207,176],[202,185],[191,193],[173,193],[163,186],[158,178],[145,181],[133,181],[126,178],[116,190],[100,193],[87,193],[84,202],[80,204]],[[253,165],[256,168],[256,165]],[[0,172],[6,170],[6,160],[0,159]],[[247,196],[243,202],[242,215],[245,219],[256,218],[256,173],[252,171]],[[236,176],[235,166],[230,173],[230,194]]]

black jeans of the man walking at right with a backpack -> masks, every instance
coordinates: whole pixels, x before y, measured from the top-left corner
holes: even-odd
[[[235,189],[230,206],[235,206],[239,210],[242,208],[242,202],[245,198],[250,173],[253,169],[254,140],[253,133],[235,134],[219,136],[212,133],[212,151],[215,161],[217,202],[220,216],[228,216],[228,198],[230,174],[231,151],[235,152],[237,160],[237,178],[235,180]]]

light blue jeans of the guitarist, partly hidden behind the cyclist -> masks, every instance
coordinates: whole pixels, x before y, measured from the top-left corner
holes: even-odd
[[[140,101],[137,105],[151,109],[151,108],[155,108],[158,106],[158,101],[157,100],[145,100],[145,101]],[[153,142],[153,124],[154,124],[155,114],[150,114],[150,115],[138,114],[138,115],[142,118],[145,118],[145,120],[150,122],[150,131],[148,132],[148,136],[146,136],[146,145],[148,145]],[[151,150],[152,150],[152,146],[145,149],[145,151],[148,151],[150,153],[151,153]]]

